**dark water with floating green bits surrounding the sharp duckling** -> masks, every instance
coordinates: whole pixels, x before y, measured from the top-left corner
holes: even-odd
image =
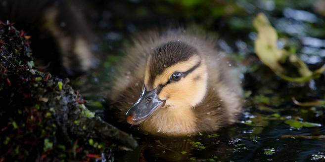
[[[254,54],[257,36],[252,20],[264,12],[279,33],[278,46],[294,49],[317,69],[325,63],[325,3],[322,0],[128,0],[92,3],[93,29],[100,36],[96,46],[105,60],[91,76],[73,81],[90,101],[88,107],[102,110],[109,94],[114,65],[123,57],[122,47],[130,36],[154,27],[197,24],[219,38],[218,45],[230,53],[241,72],[245,106],[238,123],[213,133],[192,137],[161,138],[139,135],[140,147],[115,153],[117,161],[324,161],[324,106],[300,107],[293,103],[324,99],[324,75],[308,83],[280,80]],[[107,56],[109,54],[109,56]],[[288,120],[320,125],[295,128]],[[313,136],[307,139],[298,135]]]

